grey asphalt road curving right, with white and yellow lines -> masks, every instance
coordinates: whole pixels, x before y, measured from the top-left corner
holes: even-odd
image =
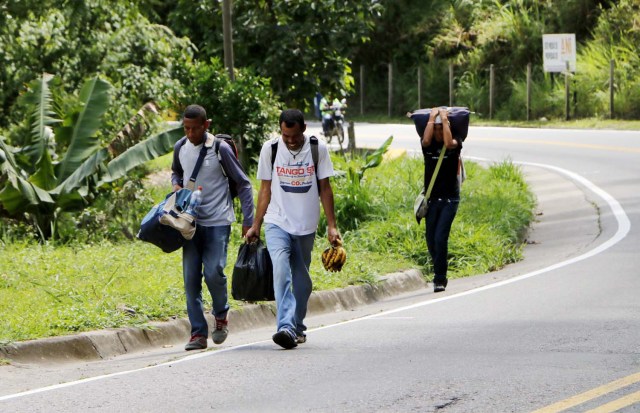
[[[359,145],[389,135],[418,149],[411,126],[356,127]],[[27,367],[53,386],[0,411],[640,411],[640,132],[472,128],[463,153],[522,163],[544,201],[523,262],[314,318],[291,351],[260,329],[188,357]]]

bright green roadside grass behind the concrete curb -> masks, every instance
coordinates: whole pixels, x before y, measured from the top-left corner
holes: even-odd
[[[166,162],[159,160],[157,168]],[[335,164],[346,166],[340,157]],[[430,274],[424,223],[416,224],[412,210],[422,170],[422,160],[401,157],[366,171],[361,185],[371,196],[366,202],[349,201],[366,213],[355,229],[342,232],[348,258],[340,273],[322,268],[320,254],[328,242],[320,229],[311,264],[315,290],[375,283],[380,275],[407,268]],[[520,234],[533,219],[534,199],[516,166],[484,169],[468,162],[467,172],[450,240],[451,277],[520,259]],[[337,208],[349,190],[345,179],[334,179]],[[229,278],[240,242],[240,227],[233,225]],[[0,343],[185,317],[179,251],[165,254],[139,241],[55,246],[13,241],[4,246],[2,258]],[[231,305],[238,303],[231,300]]]

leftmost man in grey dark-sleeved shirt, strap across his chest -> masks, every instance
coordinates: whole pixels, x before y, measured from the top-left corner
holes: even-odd
[[[195,187],[202,187],[202,203],[197,210],[196,232],[182,249],[182,272],[191,323],[191,339],[185,350],[207,348],[209,327],[202,307],[202,278],[211,294],[215,344],[228,335],[227,246],[231,223],[235,218],[230,186],[235,187],[242,206],[242,235],[253,224],[251,182],[238,162],[235,148],[207,132],[211,121],[202,106],[190,105],[184,111],[185,137],[174,146],[171,183],[174,191],[184,186],[184,177],[192,176],[203,146],[207,148],[197,174]],[[222,141],[222,142],[221,142]],[[235,191],[234,191],[235,192]]]

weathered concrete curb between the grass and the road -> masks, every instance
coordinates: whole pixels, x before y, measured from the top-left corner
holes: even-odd
[[[427,282],[418,270],[389,274],[375,285],[358,285],[311,294],[308,315],[350,310],[386,297],[426,288]],[[243,303],[229,311],[234,331],[274,325],[275,303]],[[210,325],[215,323],[206,314]],[[22,341],[0,348],[0,357],[19,363],[52,363],[92,361],[112,358],[151,348],[184,343],[191,326],[185,318],[149,323],[146,327],[123,327],[90,331],[69,336]]]

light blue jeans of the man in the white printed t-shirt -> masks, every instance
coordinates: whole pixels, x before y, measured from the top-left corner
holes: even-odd
[[[309,266],[316,234],[291,235],[274,224],[266,224],[264,234],[273,263],[277,329],[302,335],[313,287]]]

